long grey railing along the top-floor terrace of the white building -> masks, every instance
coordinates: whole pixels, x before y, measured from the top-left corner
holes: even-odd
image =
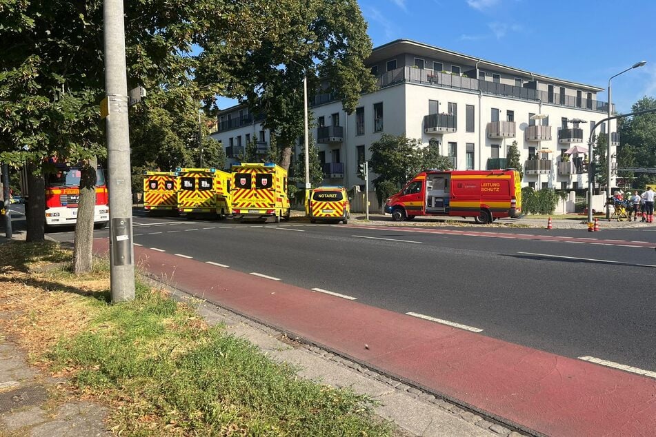
[[[392,71],[379,74],[377,77],[378,88],[385,88],[397,83],[412,82],[422,83],[439,88],[453,88],[457,90],[478,92],[484,94],[493,94],[496,96],[509,97],[511,99],[520,99],[528,101],[543,101],[555,105],[567,106],[568,108],[582,108],[595,112],[608,112],[608,103],[593,99],[577,98],[577,96],[567,96],[555,92],[534,90],[532,88],[518,87],[515,85],[506,85],[490,81],[479,81],[466,76],[434,72],[433,70],[422,70],[410,66],[397,68]],[[615,106],[613,105],[613,111]]]

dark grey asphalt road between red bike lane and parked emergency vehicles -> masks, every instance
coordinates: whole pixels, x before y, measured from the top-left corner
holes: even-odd
[[[468,325],[555,354],[656,371],[656,228],[590,234],[134,221],[135,243],[144,247]],[[50,236],[72,240],[66,230]]]

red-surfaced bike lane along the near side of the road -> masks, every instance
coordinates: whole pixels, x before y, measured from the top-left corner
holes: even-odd
[[[108,241],[95,240],[97,252]],[[135,247],[142,270],[534,434],[654,436],[656,379]]]

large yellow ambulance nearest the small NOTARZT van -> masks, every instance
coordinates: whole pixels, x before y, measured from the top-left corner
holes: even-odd
[[[274,163],[232,165],[232,216],[235,219],[289,219],[287,171]]]

